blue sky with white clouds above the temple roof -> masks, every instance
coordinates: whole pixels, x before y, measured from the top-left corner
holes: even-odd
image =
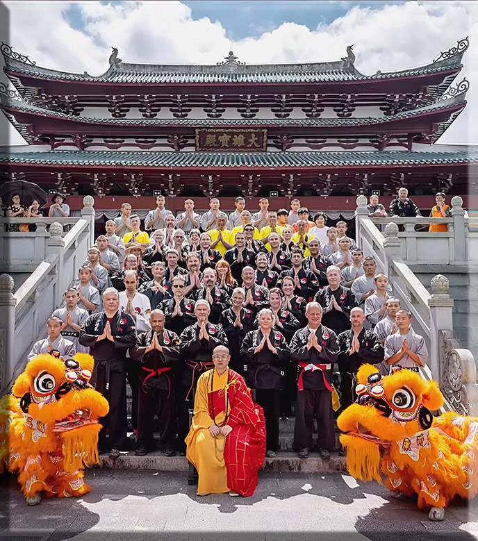
[[[458,80],[468,78],[465,112],[443,143],[478,144],[476,1],[5,1],[1,35],[38,65],[102,74],[110,47],[127,63],[215,64],[232,49],[249,63],[324,62],[354,44],[363,74],[426,64],[470,36]],[[3,60],[3,59],[2,59]],[[4,74],[0,79],[5,81]],[[0,144],[6,143],[1,115]],[[10,131],[10,142],[22,142]]]

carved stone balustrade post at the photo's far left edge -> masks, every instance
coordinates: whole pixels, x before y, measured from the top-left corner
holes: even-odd
[[[10,274],[0,276],[0,390],[13,378],[13,340],[15,339],[15,282]],[[3,394],[3,393],[2,393]]]

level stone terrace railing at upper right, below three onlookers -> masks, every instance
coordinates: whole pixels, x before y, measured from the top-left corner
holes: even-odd
[[[356,210],[357,238],[361,238],[362,227],[367,221],[379,229],[393,223],[404,228],[404,231],[397,234],[400,240],[399,254],[410,265],[463,265],[468,261],[478,263],[478,220],[465,217],[461,197],[452,198],[451,218],[370,218],[366,205],[365,196],[359,196]],[[415,231],[415,226],[430,224],[445,224],[448,231]],[[477,226],[477,229],[474,230],[474,226]],[[365,227],[366,231],[368,229]]]

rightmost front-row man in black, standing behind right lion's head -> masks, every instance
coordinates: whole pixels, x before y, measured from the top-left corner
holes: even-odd
[[[363,328],[365,315],[362,308],[350,310],[352,328],[340,333],[338,340],[338,365],[340,369],[340,406],[343,410],[356,400],[356,374],[363,363],[378,365],[384,360],[384,348],[372,331]]]

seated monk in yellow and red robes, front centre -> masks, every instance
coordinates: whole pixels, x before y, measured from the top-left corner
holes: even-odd
[[[229,369],[229,349],[213,351],[215,368],[197,381],[186,456],[195,465],[198,496],[252,496],[265,458],[265,424],[244,379]]]

